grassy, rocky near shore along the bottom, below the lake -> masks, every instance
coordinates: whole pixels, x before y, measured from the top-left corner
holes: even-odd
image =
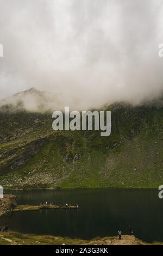
[[[162,245],[161,242],[146,243],[135,236],[122,235],[121,240],[118,236],[97,237],[90,241],[80,239],[69,239],[68,237],[21,234],[9,231],[8,233],[0,232],[0,245]]]

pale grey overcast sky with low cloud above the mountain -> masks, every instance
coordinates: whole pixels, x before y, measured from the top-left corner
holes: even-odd
[[[0,0],[0,98],[35,87],[84,106],[163,88],[162,0]]]

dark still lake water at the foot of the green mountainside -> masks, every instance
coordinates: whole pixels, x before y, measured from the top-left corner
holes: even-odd
[[[137,238],[163,241],[163,199],[158,190],[41,190],[14,191],[18,204],[56,202],[78,204],[78,210],[17,212],[0,218],[0,225],[22,233],[92,239],[115,236],[118,229],[128,234],[128,224]]]

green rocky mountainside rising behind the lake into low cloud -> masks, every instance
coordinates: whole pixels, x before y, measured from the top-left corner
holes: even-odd
[[[42,92],[30,91],[42,97]],[[21,95],[12,96],[21,100]],[[46,94],[48,95],[48,94]],[[5,100],[3,102],[6,102]],[[52,114],[0,111],[0,182],[5,188],[158,187],[163,178],[163,100],[115,103],[111,135],[53,131]]]

